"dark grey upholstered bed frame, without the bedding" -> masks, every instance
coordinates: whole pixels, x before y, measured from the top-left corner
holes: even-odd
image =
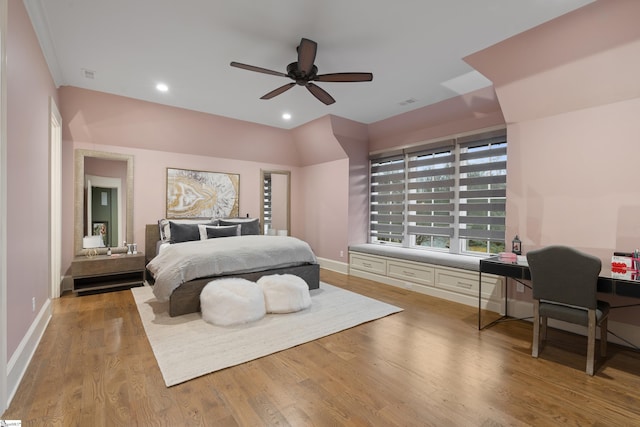
[[[156,244],[160,231],[158,224],[145,226],[145,265],[156,256]],[[268,274],[293,274],[307,282],[309,289],[320,287],[320,265],[305,264],[295,267],[276,268],[271,270],[256,271],[252,273],[230,274],[226,276],[205,277],[185,282],[176,288],[169,298],[169,315],[171,317],[200,311],[200,293],[207,283],[220,277],[242,277],[256,281]],[[153,277],[147,272],[147,280],[153,284]]]

